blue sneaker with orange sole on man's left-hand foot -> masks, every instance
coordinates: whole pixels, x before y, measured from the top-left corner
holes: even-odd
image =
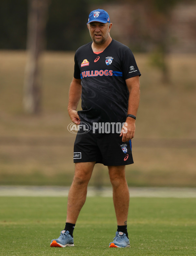
[[[69,234],[69,231],[62,230],[57,239],[51,241],[50,247],[66,247],[74,246],[74,238]]]

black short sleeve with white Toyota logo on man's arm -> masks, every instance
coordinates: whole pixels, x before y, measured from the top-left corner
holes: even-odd
[[[128,48],[123,54],[123,77],[128,79],[130,77],[141,76],[136,60],[133,56],[132,51]]]

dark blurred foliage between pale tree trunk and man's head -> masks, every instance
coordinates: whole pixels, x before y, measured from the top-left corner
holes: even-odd
[[[51,1],[46,27],[47,49],[76,50],[87,43],[85,24],[88,15],[86,0]]]

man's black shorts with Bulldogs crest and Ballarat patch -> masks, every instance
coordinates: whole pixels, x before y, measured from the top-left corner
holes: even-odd
[[[122,142],[120,133],[87,133],[78,131],[74,143],[74,163],[96,162],[104,165],[133,163],[131,140]]]

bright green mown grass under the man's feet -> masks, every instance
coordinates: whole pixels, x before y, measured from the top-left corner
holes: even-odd
[[[195,198],[130,198],[130,248],[108,248],[116,218],[107,197],[87,197],[74,230],[75,247],[51,248],[64,228],[66,204],[62,197],[0,197],[0,255],[195,255]]]

